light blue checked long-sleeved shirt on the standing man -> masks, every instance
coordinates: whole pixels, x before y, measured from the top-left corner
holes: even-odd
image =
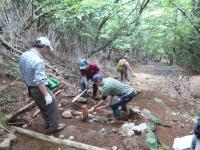
[[[44,58],[41,53],[32,48],[20,57],[20,77],[27,86],[47,85]]]

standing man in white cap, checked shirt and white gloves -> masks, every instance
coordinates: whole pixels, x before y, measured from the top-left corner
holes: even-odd
[[[46,37],[35,40],[33,47],[20,57],[20,77],[26,84],[29,96],[35,100],[49,132],[65,128],[64,123],[58,124],[58,110],[54,94],[47,87],[47,76],[43,55],[53,51]]]

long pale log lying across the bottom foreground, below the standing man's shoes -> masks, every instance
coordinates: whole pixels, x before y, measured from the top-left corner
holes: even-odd
[[[48,136],[45,134],[41,134],[41,133],[37,133],[34,131],[30,131],[30,130],[26,130],[23,128],[19,128],[19,127],[13,127],[13,129],[23,135],[35,138],[35,139],[39,139],[39,140],[43,140],[43,141],[48,141],[51,143],[55,143],[55,144],[59,144],[59,145],[66,145],[69,147],[73,147],[73,148],[77,148],[77,149],[83,149],[83,150],[106,150],[104,148],[100,148],[100,147],[96,147],[96,146],[92,146],[92,145],[88,145],[88,144],[84,144],[84,143],[80,143],[80,142],[76,142],[76,141],[71,141],[68,139],[59,139],[53,136]]]

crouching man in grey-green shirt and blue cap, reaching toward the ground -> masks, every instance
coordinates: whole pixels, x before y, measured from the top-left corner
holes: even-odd
[[[102,100],[100,100],[89,111],[110,106],[115,119],[124,119],[127,115],[127,104],[135,96],[134,89],[131,86],[111,77],[103,78],[100,74],[96,74],[93,77],[93,81],[97,86],[103,87]],[[117,96],[117,98],[114,98],[114,96]],[[108,103],[102,106],[104,100],[108,100]],[[124,112],[124,115],[122,114],[122,111]]]

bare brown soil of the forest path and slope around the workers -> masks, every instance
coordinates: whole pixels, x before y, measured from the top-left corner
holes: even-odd
[[[3,52],[0,54],[0,62],[0,109],[1,112],[9,115],[30,103],[31,100],[27,99],[28,95],[25,85],[20,80],[16,79],[12,73],[8,73],[10,69],[14,67],[10,62],[16,62],[16,64],[18,62],[8,56],[7,53]],[[108,62],[106,65],[102,64],[105,70],[110,70],[110,68],[114,67],[107,66]],[[61,132],[54,133],[53,136],[59,137],[60,135],[64,135],[65,138],[74,136],[74,141],[106,149],[111,149],[112,146],[117,146],[120,150],[131,149],[128,148],[130,143],[136,144],[140,150],[148,149],[145,143],[145,133],[127,138],[113,131],[113,129],[119,129],[122,123],[89,123],[88,121],[83,122],[80,118],[75,116],[71,119],[64,119],[61,117],[61,113],[64,110],[80,111],[80,108],[75,107],[71,103],[73,96],[80,93],[78,86],[79,73],[76,71],[78,70],[78,68],[76,68],[78,66],[74,63],[73,67],[70,68],[73,70],[72,72],[69,71],[69,66],[69,62],[62,62],[62,65],[60,65],[59,60],[56,59],[54,61],[54,67],[60,70],[61,74],[70,75],[73,73],[72,75],[74,76],[67,76],[67,79],[63,79],[60,75],[52,73],[55,78],[65,83],[65,88],[63,88],[61,94],[57,96],[57,101],[60,103],[59,121],[66,123],[66,128]],[[150,62],[148,65],[142,65],[134,61],[134,63],[131,63],[131,67],[136,77],[130,75],[129,81],[126,81],[126,83],[132,85],[137,90],[141,90],[141,93],[137,94],[134,100],[129,103],[129,106],[139,107],[140,110],[147,109],[158,117],[161,123],[170,125],[171,127],[157,125],[155,134],[160,144],[165,147],[163,149],[172,149],[174,138],[191,134],[193,130],[195,114],[191,110],[195,110],[199,104],[200,94],[198,92],[200,82],[198,81],[200,76],[192,76],[178,66],[168,66],[158,62]],[[112,73],[113,76],[117,76],[116,70],[113,70]],[[7,95],[7,97],[5,95]],[[156,102],[156,98],[162,100],[162,103]],[[3,100],[4,102],[2,102]],[[95,103],[97,103],[97,101],[90,100],[87,105],[91,107]],[[25,120],[27,125],[25,128],[28,130],[48,134],[47,130],[44,128],[41,114],[39,113],[35,118],[32,117],[37,110],[37,106],[34,106],[30,110],[19,115],[17,119]],[[97,114],[110,116],[109,113],[101,111],[97,111]],[[147,122],[138,116],[133,116],[129,121],[135,124]],[[105,128],[107,131],[105,135],[101,135],[98,132],[102,128]],[[17,136],[17,142],[12,145],[12,150],[73,150],[73,148],[66,148],[64,146],[39,141],[20,134]],[[129,142],[131,140],[134,142]]]

